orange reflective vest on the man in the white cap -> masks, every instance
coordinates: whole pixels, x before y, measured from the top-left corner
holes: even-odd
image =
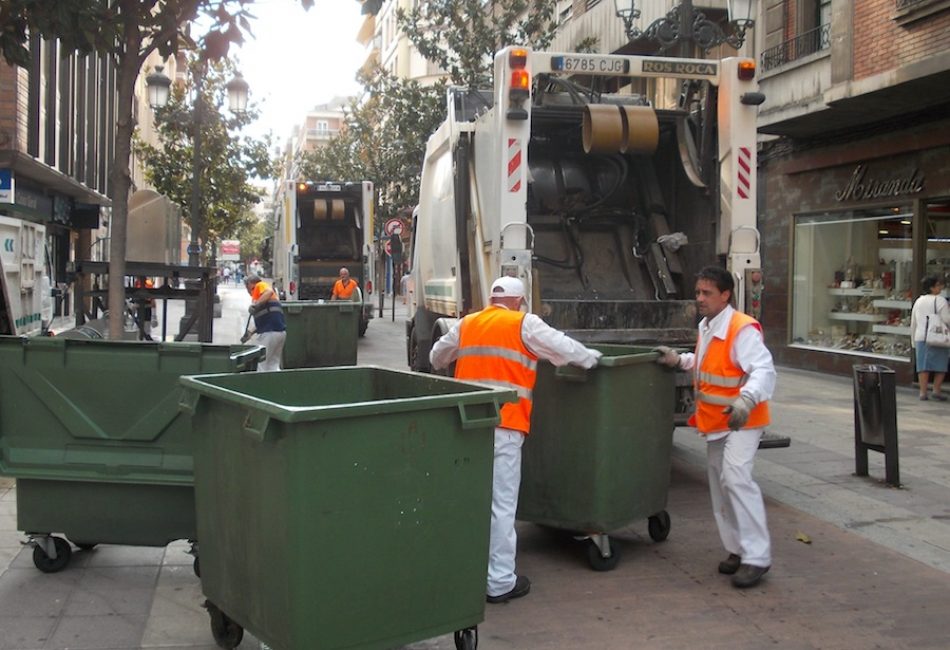
[[[455,377],[517,391],[517,402],[502,405],[498,426],[528,435],[538,356],[521,340],[524,316],[492,305],[462,319]]]

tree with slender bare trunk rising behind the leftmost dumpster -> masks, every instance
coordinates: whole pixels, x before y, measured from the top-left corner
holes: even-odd
[[[298,0],[306,9],[313,0]],[[181,44],[199,47],[211,59],[227,55],[231,43],[250,30],[252,0],[3,0],[0,4],[0,52],[10,63],[26,66],[29,34],[59,39],[63,51],[98,52],[116,67],[115,162],[112,167],[112,218],[109,241],[109,336],[119,338],[125,304],[125,245],[128,198],[132,186],[132,100],[135,81],[154,51],[170,56]],[[204,13],[211,28],[199,43],[190,23]]]

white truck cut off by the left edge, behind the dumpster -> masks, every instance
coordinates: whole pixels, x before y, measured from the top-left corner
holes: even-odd
[[[37,336],[53,318],[46,228],[0,216],[0,334]]]

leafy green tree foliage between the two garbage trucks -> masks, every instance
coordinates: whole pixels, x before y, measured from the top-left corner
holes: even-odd
[[[306,180],[369,180],[382,223],[418,201],[426,140],[445,119],[445,84],[422,86],[376,68],[346,112],[345,128],[299,161]]]

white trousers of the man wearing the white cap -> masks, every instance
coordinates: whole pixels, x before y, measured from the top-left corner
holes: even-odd
[[[489,596],[501,596],[515,588],[515,512],[521,488],[521,446],[524,434],[495,429],[495,463],[492,477],[491,533],[488,541]]]

